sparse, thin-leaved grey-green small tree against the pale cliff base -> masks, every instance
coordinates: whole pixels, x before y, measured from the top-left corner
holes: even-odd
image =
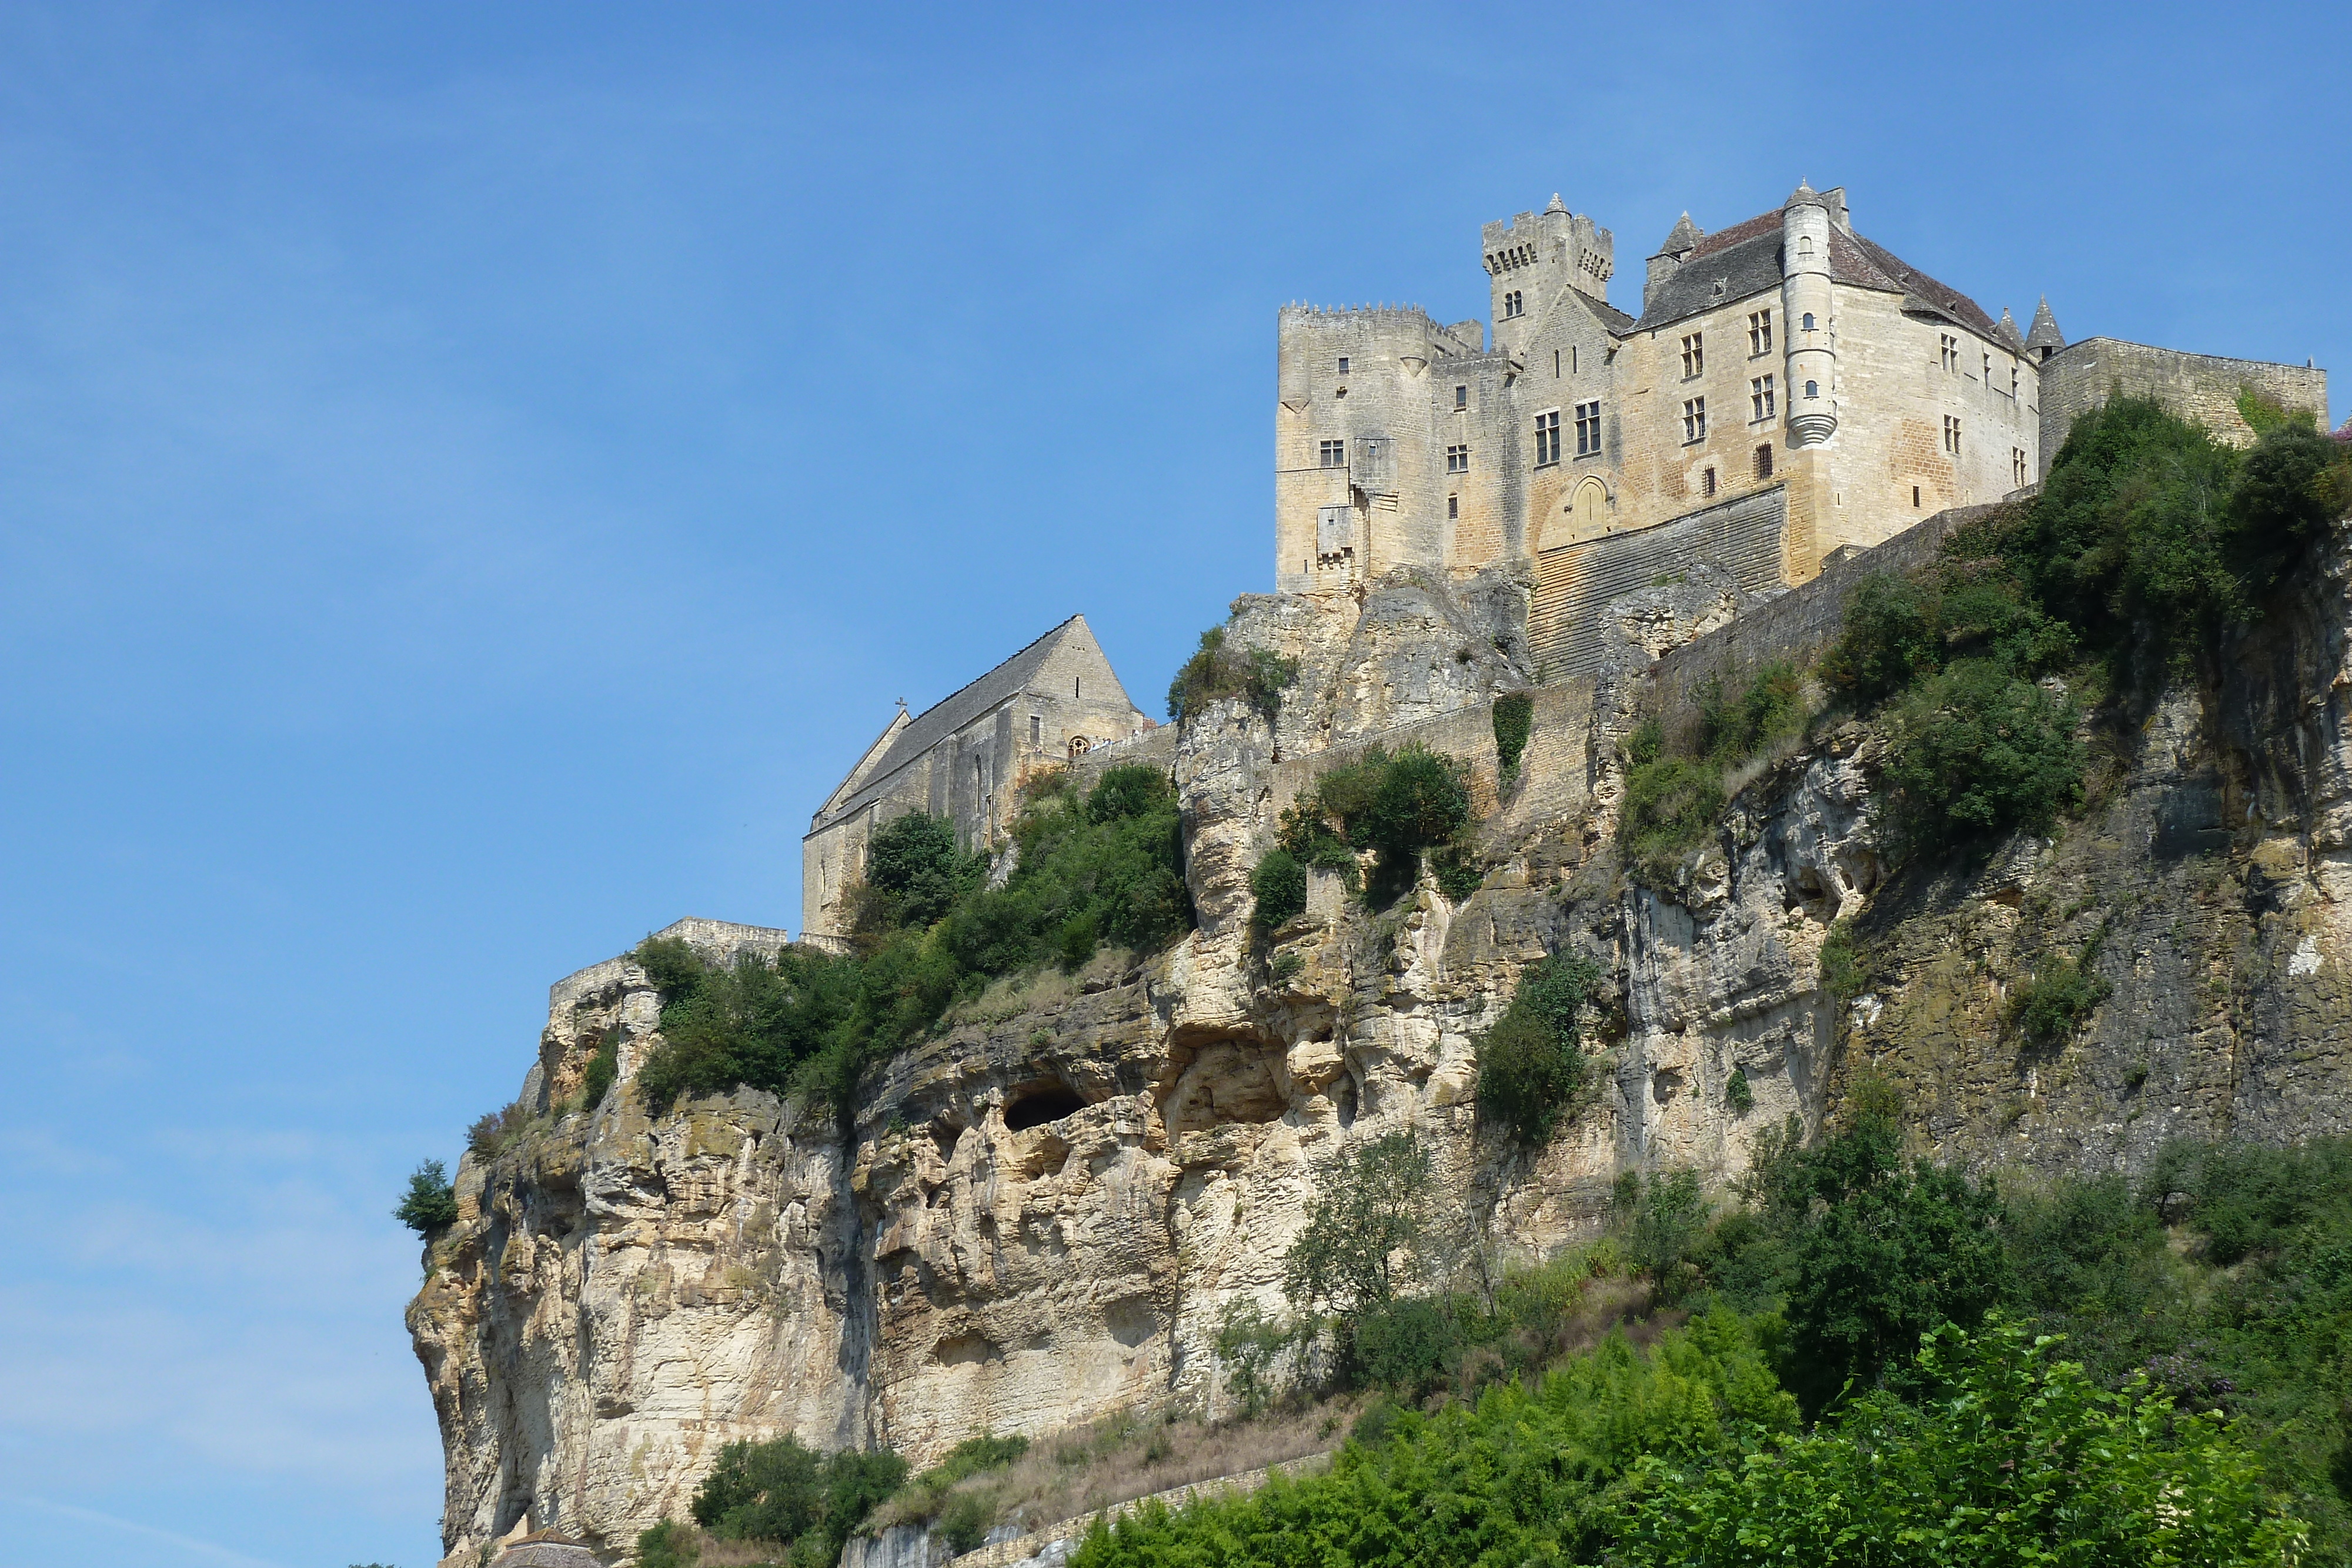
[[[1282,1262],[1296,1307],[1341,1314],[1385,1307],[1425,1272],[1430,1154],[1411,1133],[1388,1133],[1343,1154]]]

